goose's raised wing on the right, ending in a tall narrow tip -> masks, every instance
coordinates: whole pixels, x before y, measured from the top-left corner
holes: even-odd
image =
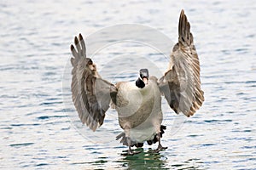
[[[173,111],[186,116],[194,115],[204,101],[200,63],[183,10],[178,23],[178,42],[172,49],[169,71],[160,78],[160,90]]]

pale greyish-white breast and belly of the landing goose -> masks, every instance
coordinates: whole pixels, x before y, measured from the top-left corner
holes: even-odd
[[[162,121],[160,90],[156,82],[149,81],[144,88],[137,88],[135,82],[124,82],[117,96],[119,124],[125,130],[130,129],[131,139],[143,142],[154,138]]]

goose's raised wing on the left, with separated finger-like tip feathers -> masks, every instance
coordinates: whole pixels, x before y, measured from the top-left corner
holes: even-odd
[[[114,99],[117,88],[103,80],[96,71],[96,65],[86,57],[84,38],[74,38],[75,47],[71,45],[73,57],[72,99],[79,112],[81,122],[95,131],[104,121],[111,97]]]

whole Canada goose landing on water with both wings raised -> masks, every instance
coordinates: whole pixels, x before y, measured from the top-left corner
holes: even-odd
[[[203,101],[200,63],[195,51],[189,21],[181,11],[178,24],[178,42],[172,49],[168,71],[163,77],[149,77],[148,69],[141,69],[135,82],[113,84],[99,75],[96,65],[86,56],[81,34],[71,45],[73,58],[72,99],[81,122],[96,131],[104,121],[105,112],[111,105],[119,115],[119,126],[124,129],[117,136],[127,145],[128,155],[135,154],[132,146],[142,147],[158,142],[155,151],[166,149],[160,138],[166,129],[161,125],[161,94],[177,114],[193,116]]]

